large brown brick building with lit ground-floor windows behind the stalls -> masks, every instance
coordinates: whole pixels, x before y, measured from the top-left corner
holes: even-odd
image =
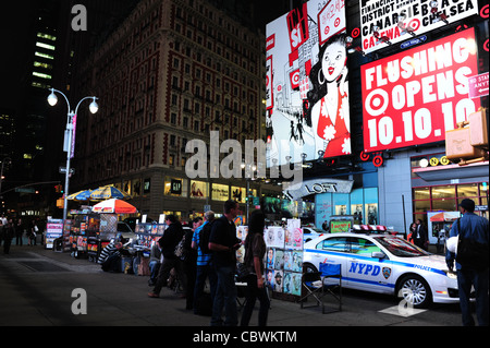
[[[213,3],[139,1],[87,59],[76,92],[96,95],[100,108],[77,118],[72,192],[114,184],[152,218],[245,203],[250,182],[185,172],[191,140],[209,144],[217,131],[245,148],[265,135],[265,35],[245,21],[252,10],[230,16]]]

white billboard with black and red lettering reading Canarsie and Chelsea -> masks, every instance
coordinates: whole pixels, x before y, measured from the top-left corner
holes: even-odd
[[[363,50],[388,47],[375,37],[376,27],[396,44],[412,38],[409,31],[420,35],[477,13],[478,0],[359,0]]]

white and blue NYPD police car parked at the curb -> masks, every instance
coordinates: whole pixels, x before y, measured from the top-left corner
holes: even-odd
[[[342,287],[403,297],[414,308],[458,302],[456,275],[444,256],[390,235],[332,233],[305,243],[304,266],[341,264]]]

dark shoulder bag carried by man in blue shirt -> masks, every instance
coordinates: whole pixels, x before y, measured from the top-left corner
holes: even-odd
[[[489,266],[488,244],[465,238],[462,233],[460,219],[457,219],[457,229],[460,238],[457,239],[456,262],[464,268],[487,269]]]

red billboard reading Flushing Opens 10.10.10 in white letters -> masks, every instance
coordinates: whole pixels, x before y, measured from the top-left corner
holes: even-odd
[[[445,140],[478,110],[468,77],[478,74],[473,28],[360,67],[366,153]]]

